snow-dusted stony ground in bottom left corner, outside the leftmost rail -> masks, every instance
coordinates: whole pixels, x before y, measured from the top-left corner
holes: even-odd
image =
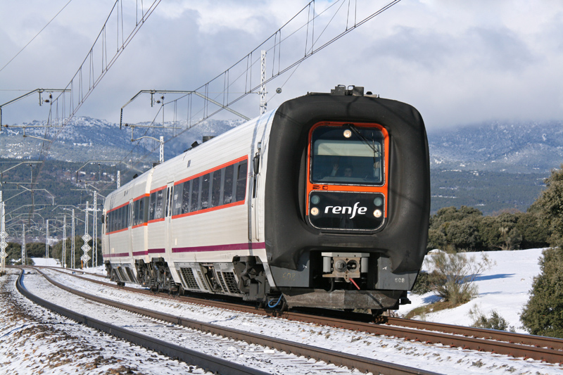
[[[0,374],[209,374],[45,310],[0,277]]]

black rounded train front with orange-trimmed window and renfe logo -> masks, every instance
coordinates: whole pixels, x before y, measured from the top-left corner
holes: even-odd
[[[305,110],[304,108],[307,108]],[[270,135],[266,246],[292,306],[407,303],[426,253],[429,157],[405,103],[358,91],[282,105]],[[296,220],[299,219],[299,220]]]

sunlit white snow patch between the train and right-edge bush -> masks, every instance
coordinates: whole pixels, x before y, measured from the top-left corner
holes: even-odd
[[[496,264],[483,272],[481,276],[476,277],[474,282],[479,288],[479,297],[455,309],[432,312],[417,319],[470,326],[474,319],[469,315],[469,310],[477,307],[487,317],[491,317],[491,312],[496,310],[508,322],[509,326],[514,326],[514,329],[519,333],[526,333],[520,322],[519,314],[528,302],[533,277],[540,273],[538,260],[542,250],[539,248],[483,252]],[[475,255],[476,260],[481,259],[481,253],[467,253],[467,255]],[[431,256],[431,254],[426,255],[426,257]],[[426,265],[426,262],[424,264]],[[412,304],[401,306],[400,314],[405,315],[415,307],[438,300],[432,293],[424,295],[409,293],[409,299]]]

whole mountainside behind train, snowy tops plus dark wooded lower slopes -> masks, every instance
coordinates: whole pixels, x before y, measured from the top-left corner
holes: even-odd
[[[241,122],[208,120],[186,131],[171,129],[172,125],[182,127],[182,124],[166,123],[164,128],[158,129],[143,127],[148,124],[141,123],[134,128],[133,136],[158,138],[163,134],[167,160],[185,151],[194,141],[201,143],[203,136],[222,134]],[[105,189],[115,189],[117,170],[122,172],[122,182],[127,182],[132,174],[147,170],[158,160],[158,142],[152,139],[132,142],[130,127],[120,129],[118,124],[105,120],[75,117],[60,134],[34,128],[45,125],[46,122],[34,121],[2,129],[0,159],[33,160],[39,155],[43,142],[23,138],[21,126],[27,127],[27,135],[56,136],[57,141],[50,148],[49,166],[41,168],[42,182],[37,186],[55,195],[56,204],[65,200],[73,205],[84,203],[91,199],[89,193],[77,189],[84,189],[86,180],[96,188],[102,185]],[[170,139],[172,136],[175,137]],[[476,207],[485,215],[512,208],[524,211],[538,197],[550,170],[563,161],[563,122],[482,123],[433,130],[428,137],[432,213],[452,205]],[[123,160],[127,165],[86,165],[77,183],[76,171],[89,160]],[[9,165],[13,164],[0,167],[6,170]],[[127,174],[130,167],[134,170]],[[30,181],[30,170],[20,167],[3,177],[4,182]],[[8,184],[2,186],[6,198],[13,194],[8,187]],[[45,203],[45,196],[49,194],[37,195],[34,203]],[[32,203],[25,194],[14,201],[20,205]]]

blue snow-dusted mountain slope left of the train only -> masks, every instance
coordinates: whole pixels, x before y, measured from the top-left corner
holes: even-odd
[[[46,121],[33,121],[12,125],[0,133],[0,158],[37,158],[42,139],[56,139],[49,148],[49,158],[63,161],[87,160],[135,160],[148,158],[158,160],[159,143],[150,138],[132,142],[141,136],[159,139],[164,136],[165,159],[169,159],[190,148],[194,141],[201,143],[203,136],[217,136],[243,120],[208,120],[188,130],[185,124],[165,123],[163,128],[146,127],[139,123],[132,127],[97,120],[90,117],[74,117],[63,128],[47,128]],[[25,130],[23,129],[25,127]],[[172,129],[182,127],[182,129]],[[23,138],[25,131],[25,138]],[[34,137],[39,137],[37,139]],[[151,155],[153,153],[153,155]]]

